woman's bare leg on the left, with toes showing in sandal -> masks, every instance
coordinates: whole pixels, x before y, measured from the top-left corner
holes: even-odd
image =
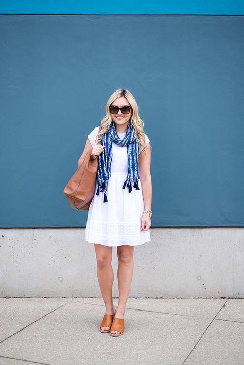
[[[114,314],[112,287],[114,273],[112,269],[112,247],[94,243],[97,259],[97,278],[105,303],[105,314]],[[109,327],[101,327],[102,330],[109,330]]]

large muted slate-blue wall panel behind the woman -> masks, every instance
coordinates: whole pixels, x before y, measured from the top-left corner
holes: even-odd
[[[152,226],[243,226],[243,30],[242,16],[1,15],[1,226],[85,226],[63,188],[119,87],[151,140]]]

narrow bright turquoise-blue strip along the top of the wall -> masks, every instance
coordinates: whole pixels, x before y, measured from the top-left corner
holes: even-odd
[[[198,15],[243,15],[241,0],[124,0],[99,1],[50,1],[1,0],[2,14],[198,14]]]

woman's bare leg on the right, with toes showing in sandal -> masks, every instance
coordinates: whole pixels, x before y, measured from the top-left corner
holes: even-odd
[[[115,313],[115,317],[124,318],[126,311],[126,303],[128,300],[133,270],[134,270],[134,254],[135,246],[123,245],[118,246],[118,289],[119,289],[119,299],[118,307]],[[111,331],[111,333],[119,333],[119,331]]]

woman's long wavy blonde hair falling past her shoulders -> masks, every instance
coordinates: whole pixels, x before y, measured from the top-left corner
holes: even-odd
[[[104,116],[101,120],[101,130],[100,133],[97,134],[96,144],[98,144],[98,142],[101,140],[102,135],[108,131],[109,126],[112,123],[109,106],[114,102],[115,99],[120,98],[121,96],[124,96],[132,107],[132,115],[130,118],[130,123],[133,125],[135,129],[136,139],[138,141],[139,149],[141,149],[140,154],[145,154],[146,141],[143,132],[144,122],[139,116],[139,108],[135,101],[135,98],[133,97],[131,92],[126,89],[117,89],[109,97],[109,100],[106,105],[106,116]]]

